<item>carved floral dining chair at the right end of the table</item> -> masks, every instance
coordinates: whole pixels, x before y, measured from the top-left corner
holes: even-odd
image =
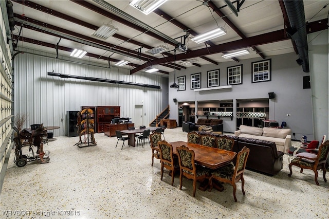
[[[243,178],[243,173],[246,168],[246,163],[247,159],[249,156],[250,149],[247,147],[243,147],[243,149],[237,153],[236,156],[236,163],[235,163],[235,168],[234,166],[230,163],[229,165],[226,165],[224,167],[216,169],[214,172],[212,172],[211,177],[209,179],[209,191],[211,191],[213,185],[212,185],[212,180],[216,179],[218,181],[222,182],[227,182],[233,186],[233,197],[234,201],[237,202],[236,199],[236,182],[241,180],[241,189],[242,189],[242,194],[245,195],[245,190],[244,190],[244,185],[245,185],[245,179]]]

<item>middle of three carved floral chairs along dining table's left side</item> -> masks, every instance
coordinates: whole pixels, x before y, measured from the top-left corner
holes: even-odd
[[[174,185],[175,170],[178,170],[177,159],[175,161],[173,156],[173,146],[166,140],[158,142],[160,150],[160,162],[161,162],[161,178],[163,178],[163,168],[171,171],[171,185]]]

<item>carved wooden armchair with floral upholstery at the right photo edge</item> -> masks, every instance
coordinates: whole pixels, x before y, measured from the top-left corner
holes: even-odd
[[[301,168],[300,172],[303,173],[304,169],[309,169],[313,170],[315,176],[315,183],[319,186],[318,182],[318,170],[323,171],[323,179],[326,182],[327,179],[325,178],[325,162],[328,158],[328,153],[329,153],[329,140],[326,140],[324,143],[322,143],[319,147],[318,154],[313,154],[313,153],[308,153],[308,152],[302,152],[297,154],[296,158],[291,160],[289,163],[289,170],[290,173],[288,176],[291,176],[293,174],[293,170],[291,167],[297,166]]]

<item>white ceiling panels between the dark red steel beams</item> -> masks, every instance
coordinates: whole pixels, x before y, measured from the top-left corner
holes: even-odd
[[[16,25],[15,30],[12,31],[13,35],[19,35],[22,37],[17,45],[20,47],[27,47],[38,49],[42,51],[48,51],[56,54],[55,45],[59,43],[59,54],[60,56],[68,57],[70,51],[62,50],[61,48],[66,47],[69,50],[73,50],[74,48],[83,48],[86,50],[87,56],[85,56],[84,60],[89,60],[93,62],[98,62],[102,64],[107,64],[106,59],[111,60],[111,65],[115,64],[120,60],[129,60],[133,65],[126,65],[123,68],[129,68],[132,73],[133,69],[148,63],[148,65],[152,65],[154,60],[163,59],[164,57],[172,58],[169,63],[173,63],[174,54],[173,49],[174,45],[170,43],[164,42],[163,39],[157,39],[154,36],[151,36],[149,32],[143,32],[140,29],[129,26],[128,24],[123,24],[122,21],[119,21],[116,18],[109,16],[109,14],[115,14],[114,12],[109,11],[98,2],[102,2],[101,0],[94,1],[53,1],[53,0],[42,0],[42,1],[12,1],[13,3],[13,12],[15,13],[15,17],[17,19],[22,19],[20,15],[24,14],[24,19],[29,22],[36,23],[35,21],[43,22],[43,26],[46,26],[49,29],[57,28],[58,32],[66,32],[71,31],[69,34],[74,35],[77,38],[82,38],[82,36],[87,36],[90,39],[95,39],[91,34],[95,31],[95,29],[91,27],[99,27],[103,23],[113,23],[115,26],[119,28],[119,31],[115,36],[108,38],[107,40],[101,40],[105,47],[107,48],[115,48],[120,50],[119,53],[114,53],[112,51],[107,51],[105,49],[96,48],[95,46],[85,45],[81,42],[75,42],[73,40],[61,38],[58,35],[51,35],[47,33],[43,33],[43,31],[32,30],[30,28],[26,28],[25,25],[22,28],[20,33],[21,26]],[[216,28],[217,26],[224,26],[227,34],[216,39],[211,40],[210,43],[212,45],[206,45],[205,43],[197,44],[190,40],[192,34],[189,34],[186,39],[186,45],[188,47],[188,51],[185,56],[179,56],[177,51],[177,60],[176,64],[178,67],[179,62],[183,59],[189,58],[189,52],[204,49],[207,47],[211,47],[214,45],[221,45],[224,43],[229,43],[232,41],[241,40],[242,37],[236,33],[236,31],[230,27],[227,22],[225,22],[220,15],[213,11],[210,7],[215,6],[219,8],[218,10],[224,14],[225,19],[228,19],[241,33],[245,36],[246,39],[251,36],[257,36],[264,33],[269,33],[276,30],[283,30],[285,28],[284,15],[282,9],[280,7],[280,3],[278,0],[267,0],[267,1],[240,1],[243,2],[240,12],[238,12],[238,16],[235,16],[232,11],[226,7],[224,1],[209,1],[209,3],[205,3],[208,1],[174,1],[169,0],[157,10],[157,12],[151,12],[149,15],[145,15],[137,9],[133,8],[129,5],[130,1],[103,1],[108,4],[113,5],[114,7],[120,9],[128,15],[134,17],[135,20],[138,20],[148,26],[160,31],[162,34],[168,36],[168,38],[175,39],[178,42],[183,39],[183,36],[189,32],[203,33],[207,30],[211,30]],[[236,2],[239,1],[231,1],[234,6],[236,6]],[[22,4],[23,3],[23,4]],[[304,1],[304,11],[305,11],[305,21],[306,22],[316,22],[322,19],[327,18],[328,10],[327,8],[323,8],[329,3],[329,1]],[[88,4],[90,7],[94,7],[95,10],[91,10],[82,6],[81,4]],[[34,9],[36,7],[37,9]],[[102,11],[105,11],[105,15],[102,14]],[[182,29],[171,22],[164,19],[161,15],[161,12],[166,13],[173,20],[179,22],[185,27],[189,28],[188,30]],[[66,16],[66,17],[64,17]],[[118,16],[118,15],[117,15]],[[76,21],[69,21],[72,19],[76,19]],[[85,27],[82,24],[78,24],[80,22],[86,22],[87,24],[92,25],[91,27]],[[17,23],[16,23],[17,24]],[[54,27],[51,27],[52,25]],[[58,28],[62,28],[63,30],[59,30]],[[34,28],[35,29],[35,28]],[[65,34],[68,35],[68,32]],[[80,35],[78,35],[80,34]],[[116,37],[117,36],[117,37]],[[128,40],[123,39],[126,38]],[[121,39],[120,39],[121,38]],[[133,40],[133,42],[132,42]],[[42,42],[42,45],[40,42]],[[131,43],[132,42],[132,43]],[[107,44],[106,44],[107,43]],[[108,44],[112,44],[108,46]],[[44,46],[47,45],[47,46]],[[166,45],[168,46],[171,54],[157,54],[156,56],[148,56],[145,51],[149,50],[152,47],[158,45]],[[218,47],[220,48],[220,47]],[[268,56],[275,56],[278,54],[294,52],[293,43],[291,40],[286,39],[279,42],[271,42],[262,45],[257,45],[256,48],[259,51],[259,54],[256,51],[253,51],[252,48],[249,47],[251,53],[245,56],[235,58],[235,61],[239,61],[242,59],[250,59],[250,58],[266,58]],[[141,56],[143,59],[139,60],[138,58],[130,57],[130,54],[133,52],[131,50],[141,51]],[[222,58],[223,51],[218,49],[218,53],[205,55],[206,59],[197,58],[198,66],[207,65],[211,63],[221,63],[232,61],[232,59],[224,59]],[[227,51],[227,50],[225,50]],[[135,52],[136,53],[136,52]],[[93,56],[88,56],[88,54],[93,54]],[[262,56],[260,56],[260,54]],[[135,55],[136,56],[136,55]],[[97,58],[96,58],[97,57]],[[99,59],[103,57],[105,60]],[[191,58],[195,57],[195,55],[191,55]],[[165,64],[165,63],[163,63]],[[145,65],[144,65],[145,66]],[[194,65],[187,65],[185,67],[191,67]],[[168,77],[168,72],[173,71],[173,67],[164,66],[162,64],[155,64],[153,67],[156,67],[161,70],[162,73],[158,73],[164,77]],[[141,69],[145,70],[145,69]],[[178,69],[179,70],[179,69]],[[153,73],[154,74],[154,73]]]

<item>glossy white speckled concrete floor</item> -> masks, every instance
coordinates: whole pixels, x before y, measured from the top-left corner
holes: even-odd
[[[167,141],[186,140],[181,128],[165,131]],[[276,176],[245,172],[245,191],[237,185],[225,190],[196,191],[192,181],[179,176],[171,186],[160,163],[151,166],[151,149],[115,148],[116,137],[95,135],[97,145],[79,148],[78,137],[55,137],[45,150],[50,162],[13,163],[11,152],[0,194],[0,218],[327,218],[329,182],[319,173],[316,186],[312,171],[293,168],[288,177],[287,155]],[[120,142],[119,142],[120,143]],[[328,174],[327,174],[328,175]],[[328,178],[328,176],[327,176]]]

